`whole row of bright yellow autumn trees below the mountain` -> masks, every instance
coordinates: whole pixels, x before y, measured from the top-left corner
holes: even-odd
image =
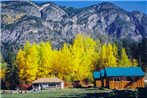
[[[88,35],[77,34],[73,44],[53,50],[49,42],[30,44],[17,53],[16,64],[21,83],[31,83],[37,78],[56,76],[65,81],[93,80],[93,71],[105,67],[136,66],[124,48],[118,56],[118,47],[112,43],[101,44]]]

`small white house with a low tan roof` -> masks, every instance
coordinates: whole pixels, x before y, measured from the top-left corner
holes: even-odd
[[[39,78],[32,82],[33,90],[45,90],[50,88],[64,88],[64,81],[58,78]]]

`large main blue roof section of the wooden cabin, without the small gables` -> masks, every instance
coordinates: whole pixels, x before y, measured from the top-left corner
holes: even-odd
[[[106,76],[144,76],[140,67],[106,68]]]

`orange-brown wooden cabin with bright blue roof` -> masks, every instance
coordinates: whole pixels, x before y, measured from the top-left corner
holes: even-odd
[[[144,72],[140,67],[105,68],[94,72],[97,87],[136,89],[144,87]]]

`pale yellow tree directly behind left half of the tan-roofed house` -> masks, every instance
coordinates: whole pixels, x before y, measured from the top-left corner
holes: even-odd
[[[53,50],[49,42],[41,42],[38,48],[39,62],[37,78],[50,77]]]

